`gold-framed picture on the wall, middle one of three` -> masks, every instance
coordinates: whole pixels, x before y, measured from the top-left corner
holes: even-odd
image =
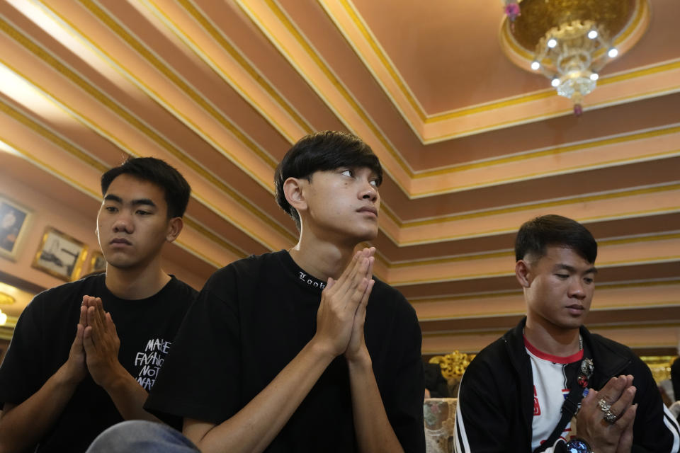
[[[80,275],[86,253],[84,243],[47,226],[31,266],[69,282]]]

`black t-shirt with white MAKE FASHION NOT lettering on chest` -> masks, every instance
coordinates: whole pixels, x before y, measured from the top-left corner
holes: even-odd
[[[41,292],[23,311],[0,366],[0,403],[20,404],[35,394],[69,357],[84,295],[101,297],[120,338],[118,360],[149,391],[188,306],[198,292],[175,277],[147,299],[115,297],[105,274]],[[86,377],[39,452],[84,452],[109,426],[123,421],[106,391]],[[180,420],[176,420],[180,421]],[[181,425],[177,425],[180,427]]]

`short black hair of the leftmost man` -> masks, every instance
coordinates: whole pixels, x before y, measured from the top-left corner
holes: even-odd
[[[108,186],[120,175],[130,175],[162,188],[168,205],[168,218],[183,217],[191,186],[176,168],[155,157],[130,157],[101,176],[101,195],[106,195]]]

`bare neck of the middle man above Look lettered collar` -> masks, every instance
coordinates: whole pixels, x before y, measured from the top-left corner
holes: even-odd
[[[305,241],[300,238],[290,249],[290,257],[305,272],[326,282],[328,277],[337,279],[352,259],[354,248],[337,246],[329,242]]]

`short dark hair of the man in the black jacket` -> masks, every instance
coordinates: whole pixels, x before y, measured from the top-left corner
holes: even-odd
[[[515,239],[515,259],[527,254],[541,258],[547,246],[572,248],[588,263],[595,263],[597,242],[588,229],[575,220],[561,215],[548,214],[523,224]]]

